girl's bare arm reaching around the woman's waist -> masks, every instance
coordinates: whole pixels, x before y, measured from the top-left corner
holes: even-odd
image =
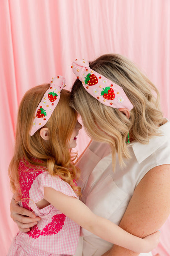
[[[95,215],[79,199],[65,195],[53,188],[44,187],[44,199],[96,236],[135,252],[147,253],[159,242],[159,232],[144,239],[133,236],[113,222]]]

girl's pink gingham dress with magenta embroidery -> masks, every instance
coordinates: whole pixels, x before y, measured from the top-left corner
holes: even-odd
[[[22,198],[26,198],[21,204],[32,209],[41,221],[29,232],[19,232],[14,237],[8,256],[74,255],[79,240],[79,225],[51,204],[43,209],[35,204],[44,198],[44,186],[78,198],[74,190],[61,178],[51,176],[45,169],[40,166],[37,169],[28,162],[20,161],[19,174]]]

